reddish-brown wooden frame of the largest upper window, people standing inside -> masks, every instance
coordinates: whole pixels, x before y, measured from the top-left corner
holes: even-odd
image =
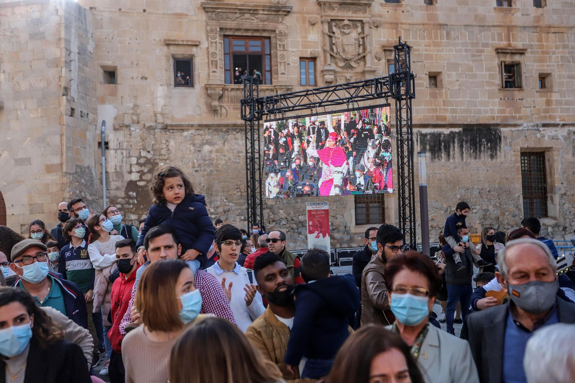
[[[249,47],[248,41],[261,41],[262,51],[260,53],[250,51],[249,48],[246,51],[234,51],[233,48],[233,41],[236,40],[244,40],[246,41],[246,47]],[[267,44],[266,44],[267,42]],[[267,52],[266,52],[267,51]],[[270,37],[252,37],[252,36],[233,36],[233,35],[226,35],[224,36],[224,83],[226,85],[233,85],[233,72],[235,65],[233,64],[233,54],[234,53],[244,53],[246,55],[260,55],[262,56],[262,85],[272,85],[272,71],[271,71],[271,39]],[[266,63],[269,62],[270,67],[269,70],[266,69]],[[228,69],[225,68],[226,63],[228,63]],[[249,73],[248,73],[249,74]],[[229,82],[227,77],[229,78]],[[267,79],[269,78],[269,83]]]

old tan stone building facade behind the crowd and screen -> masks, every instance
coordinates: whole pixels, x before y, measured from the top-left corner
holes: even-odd
[[[7,224],[53,226],[57,203],[74,196],[101,208],[105,120],[108,202],[128,220],[145,216],[151,171],[170,163],[207,196],[213,219],[244,227],[243,89],[227,83],[226,37],[267,41],[270,77],[259,90],[271,95],[303,88],[302,58],[315,62],[317,86],[387,75],[401,36],[413,47],[413,127],[428,156],[432,242],[459,200],[473,207],[467,221],[480,232],[519,225],[535,198],[543,232],[570,238],[573,25],[571,1],[0,0]],[[338,33],[355,45],[338,48]],[[178,60],[190,60],[190,86],[175,86]],[[538,197],[524,195],[532,179],[522,158],[539,161]],[[285,229],[291,248],[305,247],[307,200],[266,200],[266,228]],[[371,225],[356,224],[354,197],[323,200],[332,247],[361,243]],[[397,193],[384,201],[385,221],[396,224]]]

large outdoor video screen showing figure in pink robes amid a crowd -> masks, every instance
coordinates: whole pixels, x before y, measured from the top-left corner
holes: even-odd
[[[266,198],[393,193],[389,104],[267,120]]]

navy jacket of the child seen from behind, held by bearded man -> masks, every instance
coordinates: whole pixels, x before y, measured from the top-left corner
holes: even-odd
[[[296,285],[296,316],[284,361],[293,366],[301,357],[333,359],[350,335],[361,298],[352,274],[332,275]]]

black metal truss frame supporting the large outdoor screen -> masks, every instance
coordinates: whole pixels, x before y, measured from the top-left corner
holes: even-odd
[[[397,135],[398,221],[405,244],[415,248],[415,187],[413,180],[412,99],[415,98],[415,74],[411,71],[411,47],[401,40],[393,47],[395,72],[362,81],[323,86],[259,97],[258,81],[244,80],[244,98],[240,101],[241,119],[246,133],[246,192],[248,231],[263,220],[262,160],[260,124],[264,116],[282,117],[286,112],[309,109],[324,112],[334,105],[354,105],[361,101],[391,97],[395,100]],[[322,108],[322,110],[317,110]]]

